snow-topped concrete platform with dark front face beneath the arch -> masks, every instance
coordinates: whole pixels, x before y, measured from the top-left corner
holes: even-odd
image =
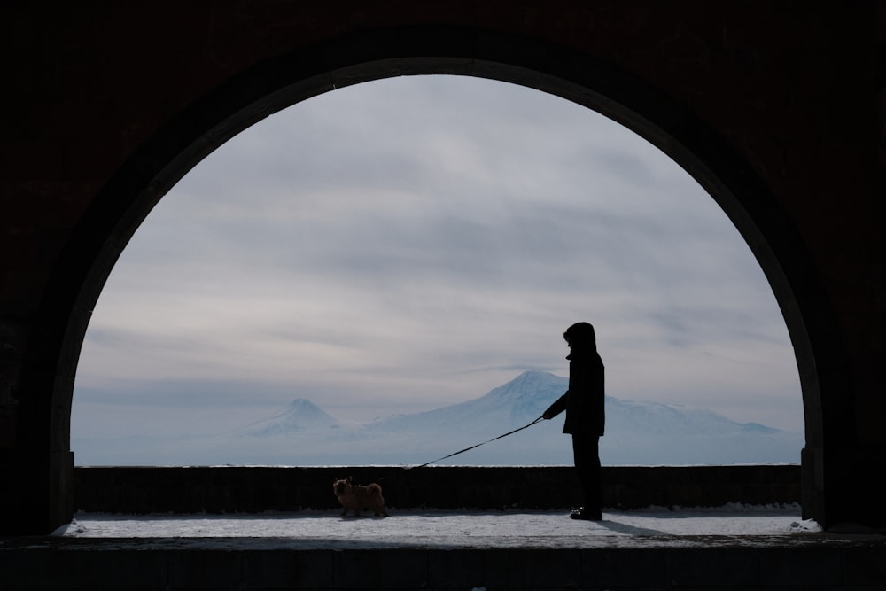
[[[0,588],[883,589],[886,536],[823,533],[794,508],[81,513],[0,540]]]

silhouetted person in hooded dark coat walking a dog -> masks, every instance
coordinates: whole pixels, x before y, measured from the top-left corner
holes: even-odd
[[[563,338],[570,347],[570,354],[566,356],[569,360],[569,389],[542,416],[550,419],[566,411],[563,432],[572,436],[575,469],[585,494],[584,506],[572,511],[569,517],[599,521],[602,519],[600,438],[606,421],[603,362],[597,354],[597,339],[590,324],[572,324],[563,332]]]

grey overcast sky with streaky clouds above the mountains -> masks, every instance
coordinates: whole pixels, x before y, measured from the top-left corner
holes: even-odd
[[[438,408],[566,376],[577,321],[610,396],[802,430],[772,290],[664,154],[532,89],[369,82],[247,129],[160,201],[98,301],[72,428]]]

